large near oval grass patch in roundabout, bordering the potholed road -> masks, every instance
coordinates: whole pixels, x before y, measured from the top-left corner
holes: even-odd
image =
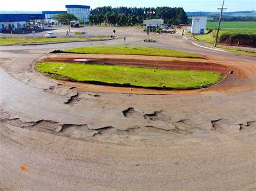
[[[53,79],[144,88],[196,89],[221,79],[220,73],[192,70],[39,62],[37,70]]]

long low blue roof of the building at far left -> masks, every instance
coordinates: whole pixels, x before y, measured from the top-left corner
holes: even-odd
[[[45,19],[44,14],[0,14],[0,22],[22,22],[31,19]]]

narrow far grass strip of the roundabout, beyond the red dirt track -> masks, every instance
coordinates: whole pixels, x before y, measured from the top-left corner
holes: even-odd
[[[122,47],[122,46],[93,46],[83,48],[65,49],[64,52],[70,53],[84,53],[84,54],[129,54],[129,55],[152,55],[152,56],[172,56],[172,57],[186,57],[186,58],[201,58],[196,54],[173,51],[165,48],[152,47]]]

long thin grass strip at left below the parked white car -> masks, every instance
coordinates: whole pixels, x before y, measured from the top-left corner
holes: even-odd
[[[57,41],[75,41],[75,40],[102,40],[105,37],[94,38],[0,38],[0,45],[14,45],[23,43],[49,43]]]

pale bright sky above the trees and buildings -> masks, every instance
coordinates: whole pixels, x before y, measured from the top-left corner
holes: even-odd
[[[223,0],[4,0],[0,11],[65,11],[66,4],[90,5],[92,9],[98,6],[137,6],[137,7],[183,7],[190,11],[217,11]],[[256,0],[226,0],[227,11],[256,10]]]

